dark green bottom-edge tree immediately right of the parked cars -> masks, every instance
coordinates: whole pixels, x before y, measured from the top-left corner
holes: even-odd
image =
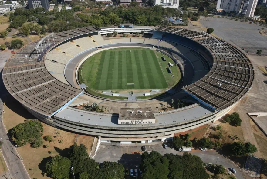
[[[156,151],[144,152],[141,156],[140,168],[143,179],[168,179],[169,160]]]

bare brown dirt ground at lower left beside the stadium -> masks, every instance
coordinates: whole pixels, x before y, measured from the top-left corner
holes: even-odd
[[[35,117],[29,114],[15,99],[11,98],[6,102],[3,122],[8,131],[27,118],[34,119]],[[24,145],[18,148],[19,154],[23,158],[25,168],[31,178],[47,178],[42,176],[46,164],[45,160],[55,155],[68,156],[69,147],[73,145],[75,141],[78,145],[83,143],[90,153],[94,137],[66,132],[44,123],[42,123],[42,125],[44,128],[43,136],[52,135],[52,138],[55,140],[50,143],[44,141],[44,145],[49,145],[48,148],[32,148],[30,145]],[[56,134],[56,132],[59,132],[59,134]],[[63,140],[63,142],[59,143],[59,140]]]

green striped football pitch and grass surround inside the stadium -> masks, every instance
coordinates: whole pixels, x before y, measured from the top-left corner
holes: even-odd
[[[167,66],[161,67],[160,63],[167,62],[162,62],[160,55],[141,48],[104,50],[83,63],[80,81],[95,90],[166,89],[169,86],[166,78],[173,77],[167,73]],[[127,83],[134,85],[127,86]]]

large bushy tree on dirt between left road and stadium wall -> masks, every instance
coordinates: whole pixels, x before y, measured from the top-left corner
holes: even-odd
[[[26,119],[25,122],[16,125],[11,131],[12,140],[19,146],[28,143],[32,144],[32,147],[41,146],[42,134],[43,125],[38,119]]]

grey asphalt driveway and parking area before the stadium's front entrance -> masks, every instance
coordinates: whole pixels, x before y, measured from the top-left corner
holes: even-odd
[[[174,149],[167,148],[164,149],[162,145],[151,145],[147,146],[147,150],[151,151],[157,151],[161,153],[162,155],[166,153],[173,153],[178,155],[183,155],[183,152],[178,152]],[[111,145],[100,145],[94,160],[96,162],[102,163],[103,161],[114,161],[119,162],[123,164],[125,168],[134,169],[136,165],[139,165],[141,162],[141,154],[134,153],[134,151],[140,151],[140,146],[111,146]],[[235,177],[237,179],[244,179],[245,177],[242,174],[242,171],[230,160],[220,155],[218,152],[213,150],[208,151],[201,151],[201,150],[192,150],[190,151],[191,154],[199,156],[202,161],[204,162],[210,162],[215,164],[218,158],[217,164],[223,165],[225,168],[235,168],[237,173],[235,174]]]

